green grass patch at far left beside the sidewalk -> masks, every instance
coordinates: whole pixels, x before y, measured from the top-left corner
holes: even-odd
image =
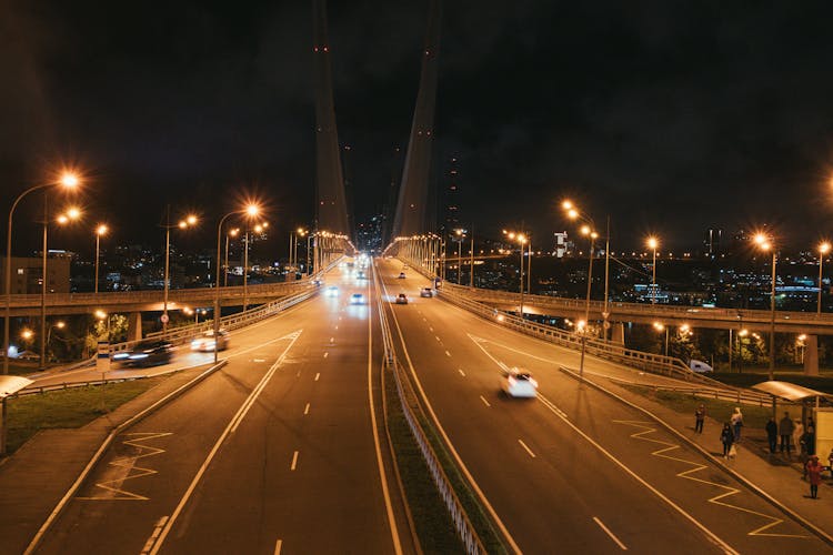
[[[7,401],[9,454],[41,430],[81,427],[141,395],[167,376],[50,391]]]

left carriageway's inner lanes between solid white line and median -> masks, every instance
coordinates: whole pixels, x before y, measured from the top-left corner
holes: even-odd
[[[213,461],[164,552],[391,551],[367,401],[368,311],[329,306]]]

